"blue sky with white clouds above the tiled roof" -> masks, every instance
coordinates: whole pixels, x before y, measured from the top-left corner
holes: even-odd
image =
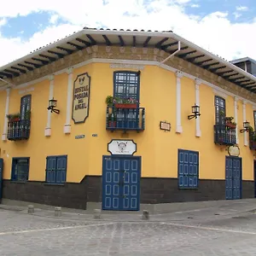
[[[172,30],[231,61],[256,60],[256,0],[13,0],[0,9],[0,66],[95,28]]]

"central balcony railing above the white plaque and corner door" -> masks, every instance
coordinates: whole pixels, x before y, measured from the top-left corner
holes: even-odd
[[[109,131],[144,131],[145,108],[107,107],[106,129]]]

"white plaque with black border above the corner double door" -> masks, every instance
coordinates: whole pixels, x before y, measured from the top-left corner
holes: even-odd
[[[112,140],[108,143],[108,152],[111,154],[134,154],[137,151],[137,143],[132,140]]]

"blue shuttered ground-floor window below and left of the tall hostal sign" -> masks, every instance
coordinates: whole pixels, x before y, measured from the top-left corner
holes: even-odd
[[[67,155],[54,155],[46,158],[45,182],[63,184],[67,177]]]

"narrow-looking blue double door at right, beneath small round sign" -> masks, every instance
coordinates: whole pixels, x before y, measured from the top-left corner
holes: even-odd
[[[226,199],[241,199],[241,158],[226,156]]]

